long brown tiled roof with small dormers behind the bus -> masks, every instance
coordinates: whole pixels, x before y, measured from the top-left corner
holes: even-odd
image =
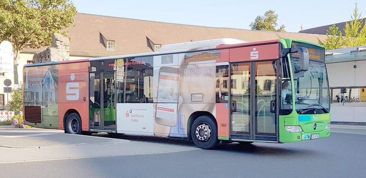
[[[296,38],[317,43],[317,37],[326,36],[306,33],[269,32],[232,28],[205,27],[176,23],[154,22],[78,13],[74,16],[74,27],[68,31],[71,36],[71,56],[112,56],[153,52],[147,45],[147,38],[154,44],[235,38],[245,41],[264,41],[279,38]],[[115,51],[107,51],[103,38],[115,41]],[[26,49],[23,52],[37,52],[41,49]]]

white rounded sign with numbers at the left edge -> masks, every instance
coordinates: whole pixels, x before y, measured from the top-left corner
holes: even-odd
[[[0,72],[14,71],[13,45],[9,41],[0,43]]]

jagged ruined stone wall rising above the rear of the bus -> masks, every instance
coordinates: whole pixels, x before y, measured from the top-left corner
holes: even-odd
[[[70,41],[59,33],[52,35],[52,46],[33,56],[33,63],[69,60]]]

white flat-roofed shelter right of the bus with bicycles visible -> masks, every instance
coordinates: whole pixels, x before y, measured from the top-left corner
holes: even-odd
[[[366,123],[366,46],[326,51],[331,121]]]

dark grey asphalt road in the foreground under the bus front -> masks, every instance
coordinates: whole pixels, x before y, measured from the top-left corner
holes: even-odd
[[[168,138],[164,142],[189,144]],[[329,138],[288,144],[232,143],[214,150],[7,163],[0,164],[0,177],[363,178],[365,152],[365,135],[332,133]]]

